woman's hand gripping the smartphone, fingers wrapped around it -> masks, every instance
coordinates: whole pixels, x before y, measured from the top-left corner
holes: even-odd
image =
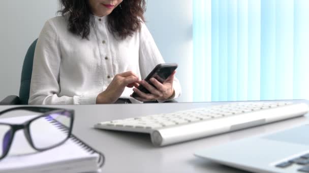
[[[134,88],[133,91],[139,96],[135,99],[141,102],[153,101],[153,100],[165,101],[172,99],[175,95],[175,91],[173,89],[173,81],[175,73],[176,71],[174,71],[163,83],[160,83],[155,78],[150,78],[150,82],[154,86],[156,86],[156,88],[154,88],[145,80],[141,80],[140,84],[143,85],[150,92],[150,94],[141,92],[140,90],[137,89],[138,85],[135,84],[134,86],[136,88]]]

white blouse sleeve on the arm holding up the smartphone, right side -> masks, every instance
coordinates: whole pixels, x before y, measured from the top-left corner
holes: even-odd
[[[142,23],[140,29],[140,45],[139,45],[139,68],[141,77],[145,78],[150,71],[158,64],[165,63],[163,57],[154,42],[151,33],[147,26]],[[178,98],[181,95],[181,86],[179,80],[174,77],[173,88],[175,91],[175,97]]]

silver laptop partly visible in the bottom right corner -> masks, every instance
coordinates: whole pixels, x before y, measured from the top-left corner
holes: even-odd
[[[309,124],[210,147],[195,156],[252,172],[309,172]]]

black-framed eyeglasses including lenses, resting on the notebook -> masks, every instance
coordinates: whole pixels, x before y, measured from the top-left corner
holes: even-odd
[[[27,110],[43,114],[21,124],[0,122],[0,160],[9,153],[14,135],[20,129],[23,129],[30,146],[37,151],[57,147],[65,143],[71,136],[74,110],[30,106],[15,107],[1,111],[0,116],[15,110]]]

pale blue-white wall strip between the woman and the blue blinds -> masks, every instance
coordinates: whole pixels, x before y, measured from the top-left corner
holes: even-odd
[[[179,102],[193,100],[193,0],[148,0],[147,26],[166,62],[178,63]]]

